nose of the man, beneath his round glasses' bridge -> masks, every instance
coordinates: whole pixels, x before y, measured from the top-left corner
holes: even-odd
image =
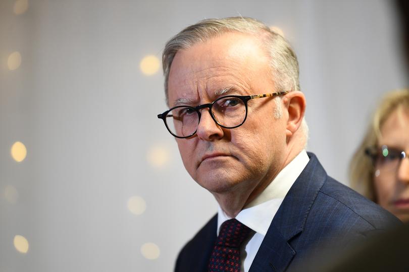
[[[212,142],[223,138],[223,128],[219,126],[210,115],[209,109],[202,109],[199,124],[196,130],[197,137],[204,141]]]

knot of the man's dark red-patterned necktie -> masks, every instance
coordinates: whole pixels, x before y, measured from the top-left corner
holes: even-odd
[[[240,247],[250,231],[249,227],[241,224],[234,218],[227,220],[220,227],[216,244],[225,247]]]

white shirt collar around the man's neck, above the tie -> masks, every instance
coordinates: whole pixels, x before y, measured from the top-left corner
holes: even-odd
[[[278,173],[263,192],[240,211],[236,219],[253,231],[266,235],[285,195],[309,160],[310,158],[306,151],[302,150]],[[226,215],[219,205],[217,234],[219,234],[219,229],[223,222],[229,219],[231,218]]]

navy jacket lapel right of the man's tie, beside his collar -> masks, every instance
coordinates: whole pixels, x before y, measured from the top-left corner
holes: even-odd
[[[309,163],[274,216],[249,272],[284,271],[295,256],[291,239],[302,232],[310,208],[327,178],[317,157],[312,153],[309,156]]]

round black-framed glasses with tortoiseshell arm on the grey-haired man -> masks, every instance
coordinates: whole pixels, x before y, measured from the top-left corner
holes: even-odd
[[[228,95],[212,103],[196,107],[176,106],[164,113],[158,114],[166,128],[176,138],[192,137],[200,122],[200,110],[209,108],[210,116],[221,127],[235,128],[244,123],[247,118],[247,101],[254,98],[275,97],[287,94],[287,91],[261,95]]]

